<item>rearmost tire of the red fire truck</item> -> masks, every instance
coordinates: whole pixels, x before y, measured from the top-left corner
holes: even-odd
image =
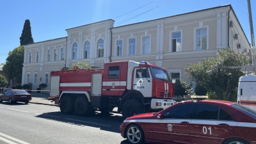
[[[70,115],[74,113],[74,100],[68,96],[65,95],[60,102],[60,111],[63,114]]]

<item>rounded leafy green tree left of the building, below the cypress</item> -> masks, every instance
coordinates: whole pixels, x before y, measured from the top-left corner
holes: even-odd
[[[21,83],[23,60],[24,47],[19,46],[8,53],[6,64],[3,66],[3,71],[7,74],[7,77],[17,83]]]

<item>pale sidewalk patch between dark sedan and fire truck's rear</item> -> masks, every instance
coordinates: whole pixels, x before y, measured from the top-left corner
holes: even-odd
[[[30,93],[32,95],[32,100],[29,103],[32,104],[45,104],[50,106],[58,106],[51,102],[52,100],[47,100],[49,97],[49,93]]]

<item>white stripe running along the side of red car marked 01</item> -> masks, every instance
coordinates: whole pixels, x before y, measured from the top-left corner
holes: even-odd
[[[230,126],[237,127],[256,127],[255,123],[250,122],[228,122],[221,120],[188,120],[188,119],[139,119],[139,120],[124,120],[124,122],[142,122],[142,123],[172,123],[172,124],[180,124],[180,122],[190,122],[190,124],[200,124],[200,125],[219,125],[219,124],[228,124]]]

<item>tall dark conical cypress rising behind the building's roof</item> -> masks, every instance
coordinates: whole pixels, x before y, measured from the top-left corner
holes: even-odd
[[[32,43],[34,43],[34,40],[32,38],[30,21],[29,19],[26,19],[23,26],[22,34],[20,36],[20,45],[27,45]]]

